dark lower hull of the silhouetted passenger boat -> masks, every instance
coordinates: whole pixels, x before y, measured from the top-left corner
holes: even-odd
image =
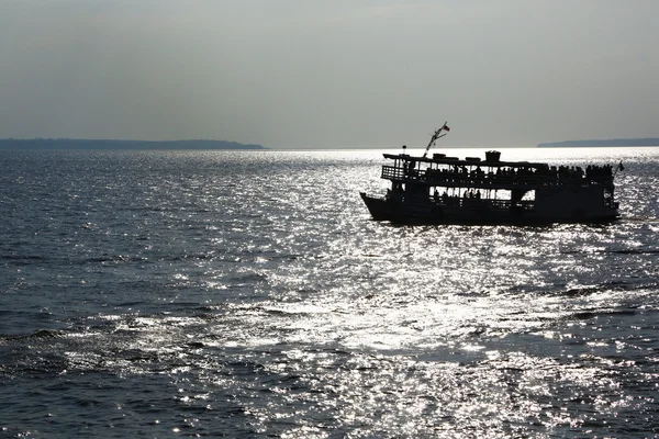
[[[597,212],[574,210],[556,214],[538,214],[529,209],[495,209],[487,203],[473,205],[439,205],[433,202],[402,202],[360,193],[376,221],[395,224],[551,224],[551,223],[610,223],[619,217],[617,209]]]

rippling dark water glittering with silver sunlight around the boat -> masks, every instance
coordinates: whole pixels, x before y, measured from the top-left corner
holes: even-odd
[[[373,222],[381,153],[0,151],[0,437],[659,437],[659,148],[504,149],[624,162],[544,227]]]

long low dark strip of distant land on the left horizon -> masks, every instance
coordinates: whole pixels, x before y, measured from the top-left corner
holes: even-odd
[[[111,140],[78,138],[1,138],[0,149],[268,149],[227,140]]]

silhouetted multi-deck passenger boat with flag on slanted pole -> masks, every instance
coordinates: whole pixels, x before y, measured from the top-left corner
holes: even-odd
[[[383,195],[360,192],[376,221],[398,224],[607,223],[619,217],[611,165],[549,166],[484,158],[428,156],[449,127],[436,130],[423,156],[384,154]]]

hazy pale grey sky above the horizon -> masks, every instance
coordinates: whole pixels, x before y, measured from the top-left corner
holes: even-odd
[[[0,0],[0,138],[659,137],[656,0]]]

